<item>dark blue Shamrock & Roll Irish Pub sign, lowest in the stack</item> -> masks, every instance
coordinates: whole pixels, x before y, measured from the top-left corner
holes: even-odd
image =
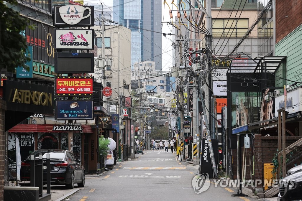
[[[55,120],[94,120],[92,100],[56,100],[55,107]]]

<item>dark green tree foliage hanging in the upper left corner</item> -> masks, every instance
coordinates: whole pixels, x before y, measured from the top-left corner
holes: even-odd
[[[26,38],[20,34],[25,30],[28,21],[8,8],[7,4],[18,3],[15,0],[0,0],[0,68],[7,68],[8,72],[13,72],[18,66],[28,69],[29,66],[24,64],[30,61],[30,57],[24,54],[27,49]]]

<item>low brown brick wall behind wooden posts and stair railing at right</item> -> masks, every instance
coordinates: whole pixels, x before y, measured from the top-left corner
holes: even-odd
[[[299,140],[301,136],[286,136],[286,147]],[[264,179],[263,168],[265,163],[272,163],[272,158],[278,149],[278,136],[264,137],[255,135],[255,179]],[[297,161],[300,164],[301,159]],[[295,162],[296,163],[296,162]],[[293,164],[288,164],[286,170],[292,168]]]

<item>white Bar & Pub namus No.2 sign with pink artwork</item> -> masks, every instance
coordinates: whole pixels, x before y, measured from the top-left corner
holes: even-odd
[[[56,49],[93,49],[93,29],[56,29]]]

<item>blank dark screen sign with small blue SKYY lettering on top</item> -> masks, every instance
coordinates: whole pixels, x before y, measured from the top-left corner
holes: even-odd
[[[94,73],[93,53],[55,54],[55,73]]]

